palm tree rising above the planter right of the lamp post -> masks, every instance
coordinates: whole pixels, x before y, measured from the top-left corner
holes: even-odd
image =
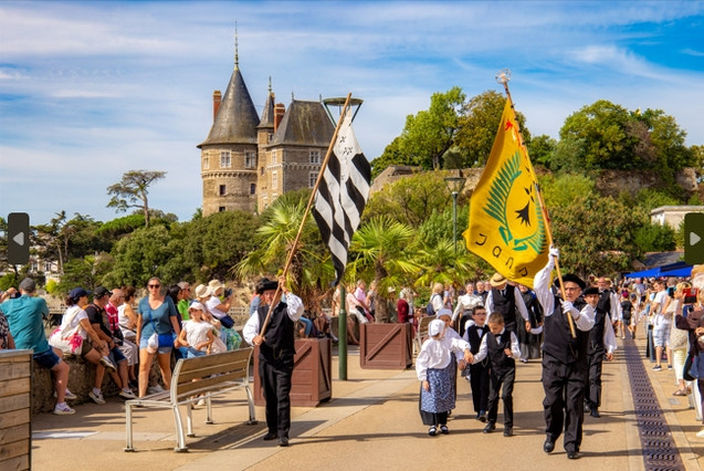
[[[367,222],[353,237],[350,266],[346,278],[371,278],[377,283],[377,322],[391,321],[387,308],[388,289],[399,286],[409,273],[418,271],[413,262],[414,230],[388,217]]]

